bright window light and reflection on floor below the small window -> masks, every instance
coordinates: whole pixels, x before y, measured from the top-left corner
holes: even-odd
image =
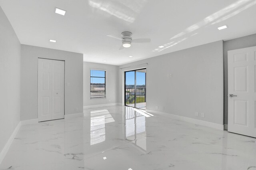
[[[106,140],[105,124],[114,122],[114,118],[107,109],[90,111],[91,114],[91,142],[90,145]]]

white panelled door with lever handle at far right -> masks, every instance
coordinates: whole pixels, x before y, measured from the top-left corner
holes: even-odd
[[[228,131],[256,137],[256,46],[228,51]]]

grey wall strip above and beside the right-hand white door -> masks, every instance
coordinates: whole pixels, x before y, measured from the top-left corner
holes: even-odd
[[[246,47],[256,46],[256,34],[250,36],[245,36],[241,38],[236,38],[233,40],[228,40],[223,43],[224,51],[224,86],[225,86],[225,103],[224,103],[224,113],[225,113],[225,124],[228,124],[228,51],[233,49],[240,49]]]

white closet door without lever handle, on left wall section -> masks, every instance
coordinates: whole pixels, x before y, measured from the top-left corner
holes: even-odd
[[[64,61],[38,59],[38,121],[64,118]]]

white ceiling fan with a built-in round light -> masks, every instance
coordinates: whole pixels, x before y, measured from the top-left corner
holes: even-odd
[[[119,48],[119,50],[130,47],[132,42],[133,43],[148,43],[151,41],[150,38],[137,38],[137,39],[132,40],[132,33],[127,32],[127,31],[121,33],[122,37],[113,36],[113,35],[107,35],[107,36],[111,37],[111,38],[115,38],[117,40],[122,40],[122,46]]]

